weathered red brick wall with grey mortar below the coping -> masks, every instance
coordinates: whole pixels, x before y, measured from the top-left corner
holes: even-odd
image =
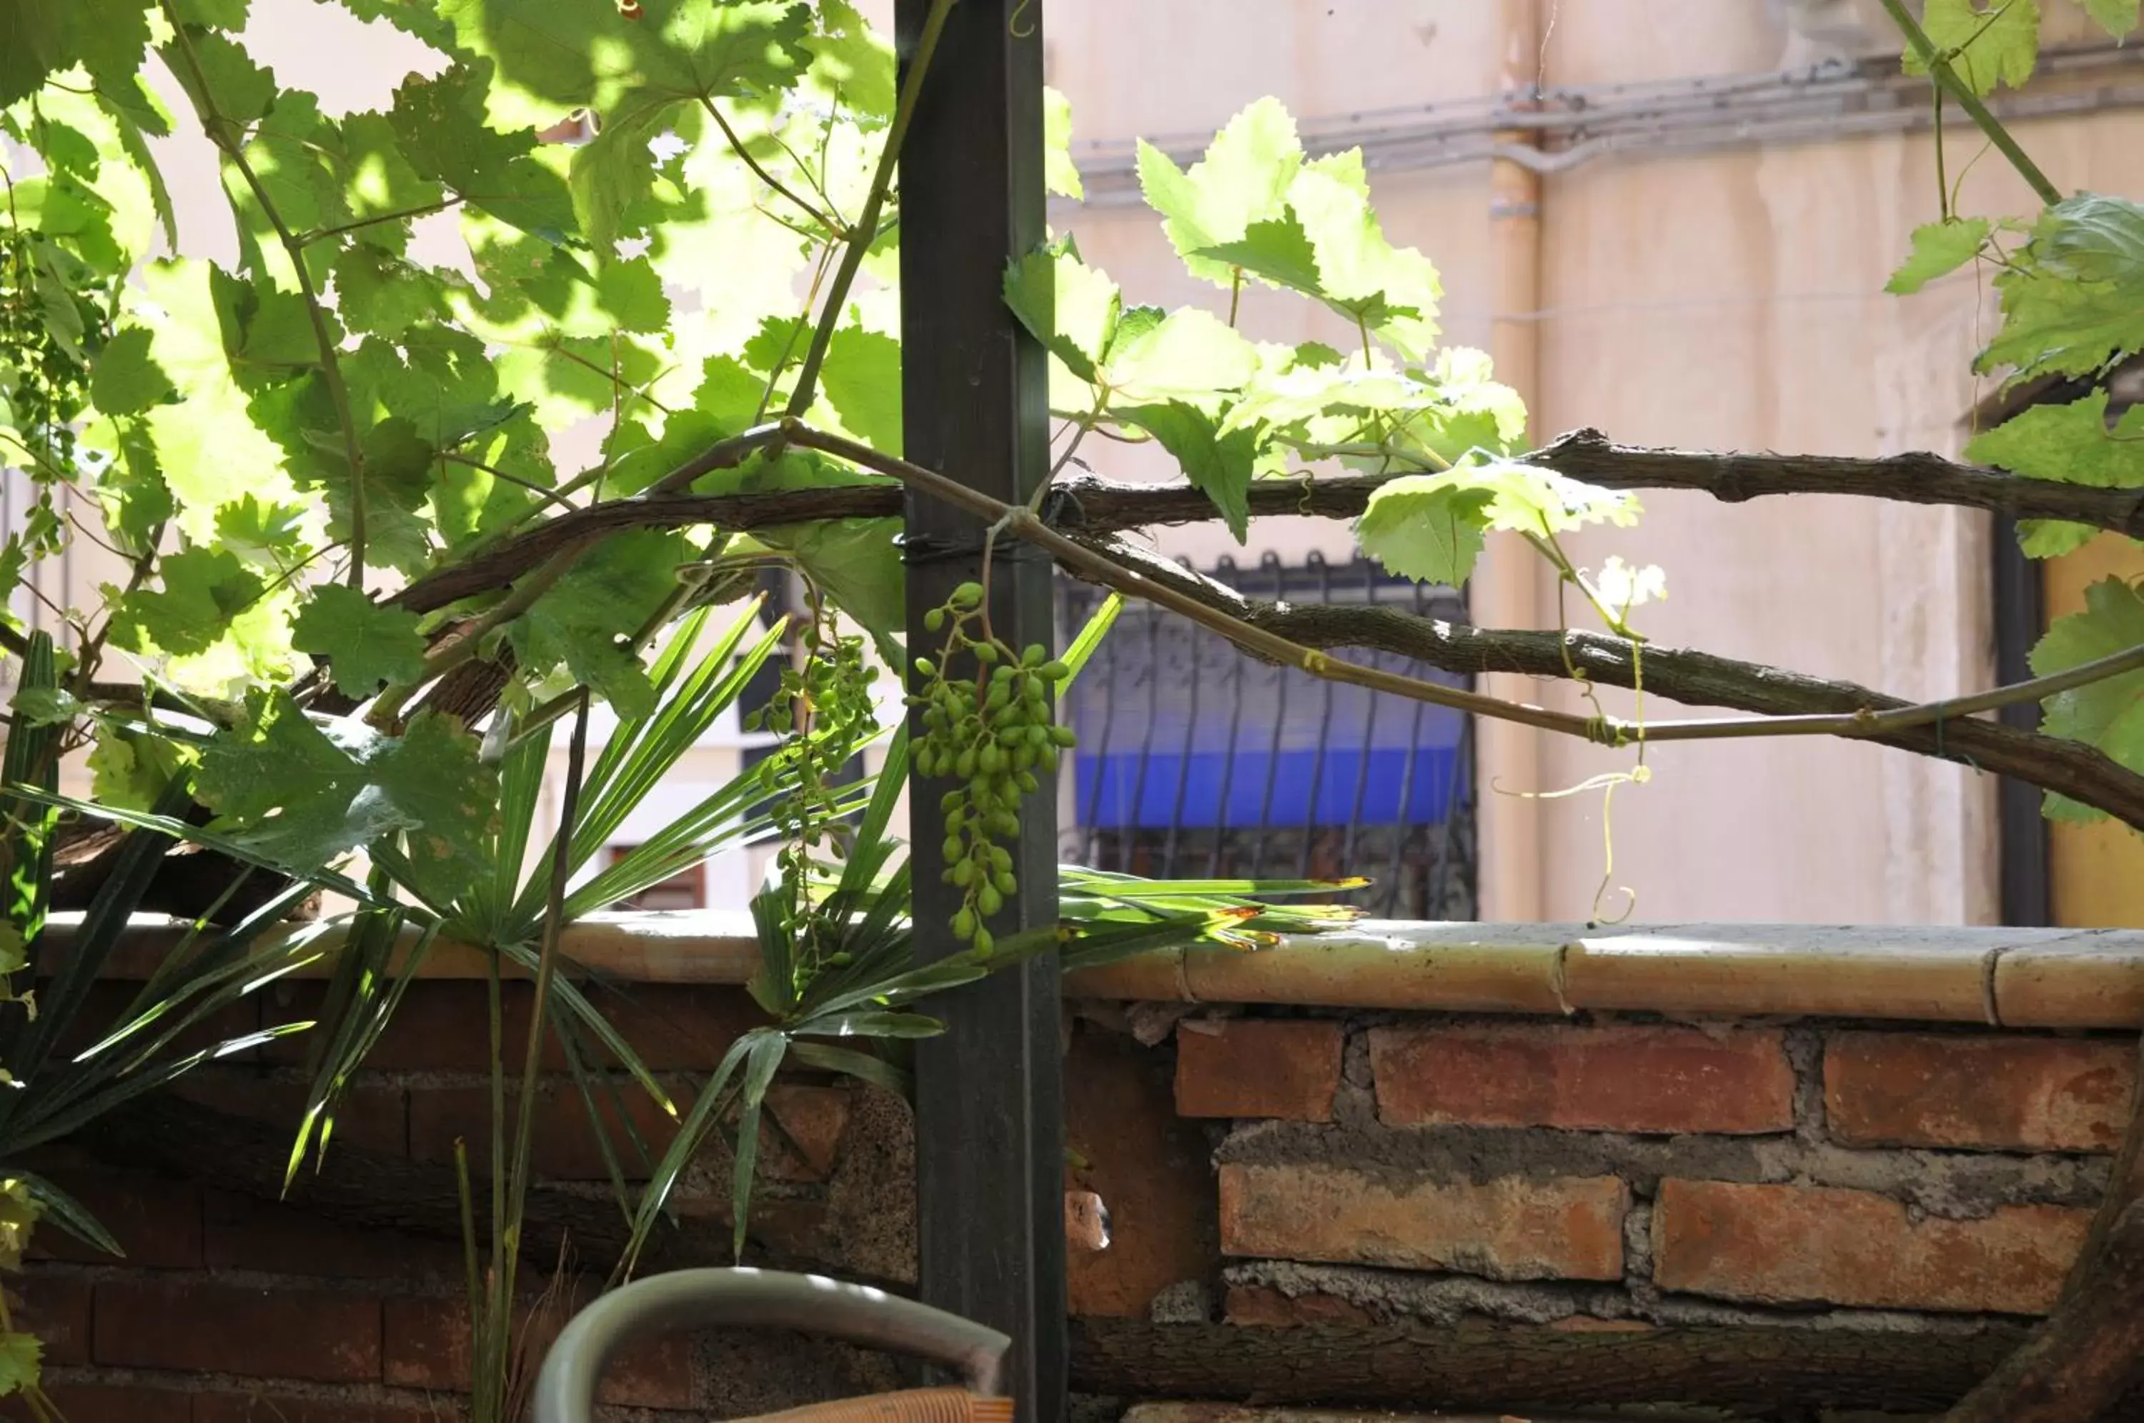
[[[270,1018],[304,1016],[309,992],[283,990]],[[510,1007],[525,1022],[525,1001]],[[727,988],[635,988],[609,1007],[682,1099],[753,1022]],[[1072,1256],[1078,1316],[1244,1331],[2000,1329],[2054,1299],[2135,1063],[2127,1035],[1282,1007],[1201,1009],[1171,1029],[1173,1012],[1087,1003],[1070,1033],[1068,1187],[1100,1196],[1113,1228],[1108,1249]],[[478,986],[416,986],[356,1087],[345,1140],[414,1159],[485,1140],[478,1022]],[[287,1123],[294,1042],[187,1091]],[[581,1097],[564,1063],[553,1072],[538,1166],[557,1189],[600,1194]],[[757,1207],[770,1245],[911,1279],[905,1106],[798,1078],[770,1108]],[[660,1117],[637,1125],[660,1147]],[[684,1204],[697,1230],[727,1234],[716,1157]],[[71,1423],[452,1417],[467,1380],[459,1243],[66,1151],[47,1166],[126,1247],[105,1260],[47,1228],[15,1282]],[[585,1286],[564,1288],[570,1301]],[[540,1348],[564,1305],[532,1309]],[[682,1423],[892,1378],[883,1361],[795,1339],[673,1339],[622,1365],[607,1399]]]

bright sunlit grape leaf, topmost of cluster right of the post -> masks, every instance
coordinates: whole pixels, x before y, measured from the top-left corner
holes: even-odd
[[[1235,283],[1235,268],[1207,249],[1237,242],[1252,223],[1280,216],[1301,165],[1295,120],[1278,99],[1261,99],[1231,118],[1190,171],[1153,144],[1138,144],[1138,186],[1147,206],[1162,214],[1162,231],[1183,268],[1220,287]]]

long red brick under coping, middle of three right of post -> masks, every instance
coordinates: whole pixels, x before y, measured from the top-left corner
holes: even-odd
[[[1775,1029],[1372,1029],[1370,1074],[1379,1119],[1402,1127],[1662,1134],[1795,1127],[1795,1069]]]

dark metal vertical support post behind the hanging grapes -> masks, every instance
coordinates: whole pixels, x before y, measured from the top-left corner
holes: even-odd
[[[930,0],[896,0],[903,66]],[[903,444],[909,459],[1023,501],[1048,461],[1048,366],[1003,302],[1006,261],[1046,236],[1042,0],[961,0],[900,152]],[[924,613],[982,579],[984,525],[907,499],[909,649]],[[1053,645],[1051,566],[999,540],[986,596],[997,636]],[[913,731],[922,731],[913,724]],[[958,892],[941,881],[943,780],[909,795],[915,958],[958,945]],[[1018,892],[997,939],[1057,919],[1057,789],[1042,778],[1012,847]],[[1040,958],[933,999],[946,1035],[915,1052],[915,1213],[922,1299],[1012,1335],[1021,1423],[1066,1399],[1063,1099],[1057,960]]]

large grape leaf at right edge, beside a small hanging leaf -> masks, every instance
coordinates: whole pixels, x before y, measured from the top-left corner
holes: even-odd
[[[1977,371],[2088,375],[2144,349],[2144,206],[2080,193],[2039,214],[1996,276],[2002,330]]]

